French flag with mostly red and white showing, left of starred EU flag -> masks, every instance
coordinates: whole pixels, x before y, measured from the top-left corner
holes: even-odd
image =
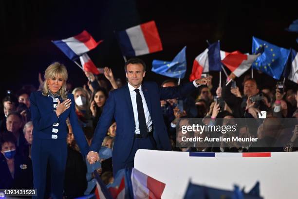
[[[259,57],[258,55],[245,55],[239,51],[232,53],[221,52],[222,63],[236,76],[240,77],[251,66],[251,64]]]

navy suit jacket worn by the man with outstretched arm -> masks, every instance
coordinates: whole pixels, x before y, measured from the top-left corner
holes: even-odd
[[[159,87],[155,82],[143,82],[142,90],[153,123],[153,137],[159,150],[171,150],[166,125],[162,115],[160,100],[182,98],[196,87],[193,82],[178,87]],[[91,151],[99,151],[112,119],[117,130],[113,146],[113,159],[124,161],[130,155],[133,145],[135,122],[128,84],[110,92],[109,98],[98,120],[93,136]]]

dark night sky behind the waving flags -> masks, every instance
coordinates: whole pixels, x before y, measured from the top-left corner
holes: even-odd
[[[153,59],[172,60],[186,45],[187,71],[182,82],[187,81],[193,60],[207,47],[206,40],[220,40],[224,51],[246,53],[251,52],[252,36],[256,36],[297,50],[298,34],[285,31],[298,18],[297,7],[295,1],[261,0],[0,0],[0,98],[6,90],[16,91],[24,84],[37,87],[38,72],[55,61],[66,65],[73,88],[86,84],[81,69],[51,42],[83,30],[95,40],[104,40],[88,53],[95,65],[111,67],[123,82],[124,60],[113,31],[150,20],[156,22],[164,50],[140,58],[148,67],[145,80],[157,83],[167,78],[150,71]],[[218,72],[212,74],[218,82]],[[254,74],[260,85],[275,83],[271,77]]]

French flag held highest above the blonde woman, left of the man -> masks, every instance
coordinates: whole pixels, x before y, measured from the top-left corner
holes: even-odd
[[[95,48],[103,40],[96,42],[93,37],[84,30],[82,33],[64,40],[52,42],[70,59],[76,60],[84,53]]]

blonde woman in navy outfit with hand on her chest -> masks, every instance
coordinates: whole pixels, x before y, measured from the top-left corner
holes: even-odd
[[[31,158],[38,199],[44,198],[48,163],[51,168],[52,198],[62,199],[67,158],[67,118],[72,124],[81,154],[85,156],[89,151],[75,114],[74,96],[66,91],[67,77],[66,67],[55,62],[45,71],[43,89],[30,95],[34,126]]]

